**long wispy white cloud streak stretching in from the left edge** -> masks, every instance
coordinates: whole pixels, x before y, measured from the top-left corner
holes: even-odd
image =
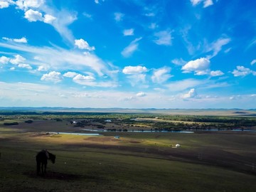
[[[33,65],[48,65],[52,70],[87,70],[96,72],[98,75],[111,75],[110,65],[101,60],[93,53],[83,54],[77,50],[68,50],[60,47],[36,47],[21,43],[1,43],[0,47],[11,50],[22,51],[24,54],[32,56],[26,61]],[[43,63],[36,63],[36,58]],[[22,62],[23,63],[23,62]]]

